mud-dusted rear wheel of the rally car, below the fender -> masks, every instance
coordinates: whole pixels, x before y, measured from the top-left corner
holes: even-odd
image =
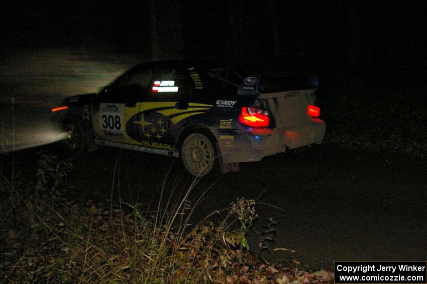
[[[204,176],[213,168],[215,149],[205,135],[192,133],[182,143],[181,157],[185,169],[190,174]]]

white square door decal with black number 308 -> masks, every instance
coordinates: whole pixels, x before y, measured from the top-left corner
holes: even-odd
[[[123,137],[123,116],[122,105],[120,104],[100,104],[100,127],[105,135]]]

